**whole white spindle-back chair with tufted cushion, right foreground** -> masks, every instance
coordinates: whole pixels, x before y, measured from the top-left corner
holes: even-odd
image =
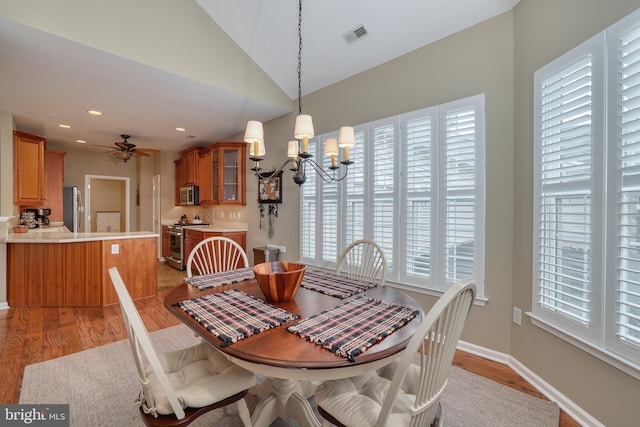
[[[316,390],[323,427],[439,426],[440,397],[465,320],[475,298],[472,283],[455,283],[426,314],[406,349],[391,364]],[[418,358],[417,364],[412,363]]]

